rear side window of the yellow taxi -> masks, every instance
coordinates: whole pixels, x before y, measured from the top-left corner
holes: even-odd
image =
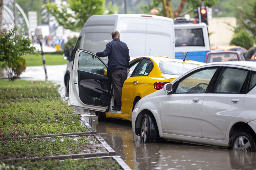
[[[154,64],[150,59],[143,59],[137,64],[137,67],[134,69],[131,76],[148,75],[153,69],[153,67],[154,67]]]

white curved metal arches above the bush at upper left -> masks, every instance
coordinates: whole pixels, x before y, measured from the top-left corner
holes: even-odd
[[[20,11],[20,13],[22,14],[25,22],[26,22],[26,25],[27,25],[27,28],[29,30],[29,21],[28,21],[28,18],[25,14],[25,12],[23,11],[23,9],[19,6],[19,4],[16,3],[16,7],[18,8],[18,10]],[[4,17],[5,17],[5,21],[9,21],[11,23],[11,26],[12,28],[14,27],[14,15],[13,15],[13,12],[6,6],[4,5]],[[28,31],[28,35],[30,37],[30,33]]]

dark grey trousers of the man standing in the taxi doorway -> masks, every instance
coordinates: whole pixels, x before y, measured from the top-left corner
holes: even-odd
[[[127,79],[127,71],[125,69],[116,69],[111,73],[114,86],[115,101],[118,106],[122,105],[122,88],[124,81]]]

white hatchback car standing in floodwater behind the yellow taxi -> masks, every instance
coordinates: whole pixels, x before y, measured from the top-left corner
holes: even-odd
[[[158,137],[255,151],[256,64],[215,62],[180,75],[142,98],[132,128],[143,142]]]

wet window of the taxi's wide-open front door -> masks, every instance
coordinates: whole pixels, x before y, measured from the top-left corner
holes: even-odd
[[[90,73],[106,75],[106,66],[97,58],[92,58],[92,55],[82,52],[79,55],[78,70],[86,71]]]

